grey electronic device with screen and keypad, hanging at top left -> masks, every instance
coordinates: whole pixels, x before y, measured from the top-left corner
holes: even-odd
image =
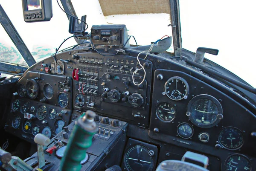
[[[22,0],[24,21],[49,21],[52,18],[52,0]]]

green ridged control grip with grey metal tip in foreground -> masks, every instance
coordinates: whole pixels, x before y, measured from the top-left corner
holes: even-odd
[[[87,110],[76,121],[61,159],[60,171],[80,171],[80,162],[85,158],[87,148],[92,145],[93,135],[97,130],[95,116],[96,113]]]

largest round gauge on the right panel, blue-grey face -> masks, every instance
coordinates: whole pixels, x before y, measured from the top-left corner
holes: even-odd
[[[191,99],[186,115],[193,124],[200,128],[211,128],[223,119],[220,102],[207,94],[198,95]]]

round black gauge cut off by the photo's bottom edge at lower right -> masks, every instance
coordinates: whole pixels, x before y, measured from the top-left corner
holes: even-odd
[[[232,154],[225,161],[225,171],[251,171],[250,160],[242,154]]]

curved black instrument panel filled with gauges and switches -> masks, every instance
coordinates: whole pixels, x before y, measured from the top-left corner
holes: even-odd
[[[70,60],[72,56],[77,57]],[[256,131],[253,113],[217,86],[202,81],[204,76],[170,60],[159,62],[154,55],[149,55],[151,60],[140,59],[146,77],[143,84],[134,85],[132,74],[139,67],[136,57],[133,53],[104,57],[96,52],[74,50],[58,54],[58,58],[70,60],[64,64],[64,75],[40,73],[36,66],[31,67],[17,84],[19,95],[12,99],[6,130],[23,139],[30,137],[32,142],[37,133],[52,137],[61,131],[63,125],[70,124],[71,114],[93,110],[143,129],[141,133],[131,127],[128,138],[140,140],[139,145],[154,144],[159,151],[154,154],[157,163],[165,159],[180,160],[185,151],[193,151],[209,157],[213,170],[224,171],[232,159],[239,157],[246,163],[243,168],[255,169],[255,139],[250,136]],[[44,63],[52,61],[47,58]],[[143,80],[143,75],[143,70],[134,75],[136,84]],[[31,107],[34,112],[30,111]],[[67,112],[61,115],[62,110]],[[28,113],[26,118],[25,113]],[[35,118],[28,119],[33,117],[29,114]],[[148,144],[123,149],[127,154],[124,159],[132,158],[127,153],[129,150],[148,152]],[[151,161],[151,157],[146,159],[141,160]],[[132,165],[123,162],[126,168]],[[240,165],[232,170],[236,168]]]

